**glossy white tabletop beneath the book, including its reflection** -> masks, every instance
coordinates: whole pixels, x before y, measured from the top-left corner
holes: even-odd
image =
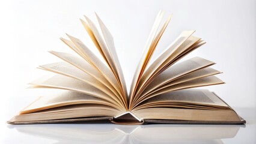
[[[70,142],[256,143],[256,109],[235,108],[235,110],[246,119],[245,125],[116,125],[109,122],[9,125],[1,121],[0,142],[37,144]]]

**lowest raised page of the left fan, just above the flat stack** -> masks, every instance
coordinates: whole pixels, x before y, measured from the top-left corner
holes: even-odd
[[[82,92],[84,94],[92,95],[94,97],[102,98],[103,100],[109,101],[117,106],[120,106],[120,109],[124,109],[123,105],[120,105],[109,95],[106,95],[104,92],[95,88],[94,86],[88,85],[81,80],[76,80],[71,77],[62,76],[59,74],[49,74],[43,76],[33,82],[29,83],[34,85],[35,88],[57,88],[57,89],[67,89],[70,91]]]

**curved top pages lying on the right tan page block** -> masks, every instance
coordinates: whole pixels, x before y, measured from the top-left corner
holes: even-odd
[[[209,109],[208,107],[212,107],[213,109],[228,108],[227,104],[206,89],[185,89],[167,92],[149,98],[135,107],[135,109],[138,109],[138,107],[147,108],[148,106],[163,107],[162,105],[170,105],[170,107],[190,106],[190,108],[201,106],[201,109],[204,107],[207,109]]]

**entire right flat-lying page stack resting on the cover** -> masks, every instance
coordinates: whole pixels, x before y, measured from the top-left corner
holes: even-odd
[[[142,119],[240,121],[239,116],[210,91],[191,89],[160,94],[132,112]]]

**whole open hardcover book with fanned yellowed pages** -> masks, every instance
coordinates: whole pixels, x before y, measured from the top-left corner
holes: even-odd
[[[97,16],[97,14],[96,14]],[[160,26],[163,11],[154,21],[147,44],[136,68],[129,95],[114,40],[99,16],[100,29],[87,17],[81,20],[102,58],[81,40],[61,38],[78,55],[50,51],[62,62],[41,65],[50,71],[31,82],[31,88],[63,89],[50,98],[41,96],[10,124],[96,121],[109,119],[116,124],[243,124],[245,120],[213,92],[197,88],[219,85],[221,73],[210,68],[215,62],[200,57],[178,62],[205,44],[184,31],[150,65],[171,16]],[[102,61],[103,60],[103,61]],[[177,63],[176,63],[177,62]]]

